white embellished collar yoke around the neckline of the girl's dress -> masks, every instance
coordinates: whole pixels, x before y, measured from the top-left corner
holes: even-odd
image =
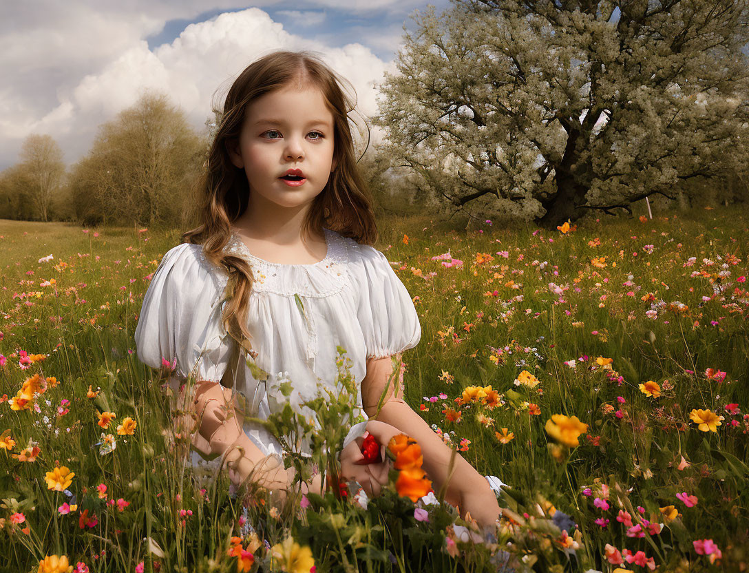
[[[329,297],[351,285],[348,273],[348,243],[341,234],[323,228],[327,254],[321,261],[306,264],[272,263],[256,257],[232,231],[225,252],[244,258],[252,267],[253,292],[270,292],[285,297]]]

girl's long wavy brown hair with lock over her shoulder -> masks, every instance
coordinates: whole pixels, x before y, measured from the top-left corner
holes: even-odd
[[[271,52],[249,64],[234,80],[226,94],[216,136],[208,151],[207,166],[195,184],[195,208],[200,224],[182,234],[183,241],[202,244],[205,257],[229,273],[225,291],[227,303],[222,312],[226,331],[243,348],[252,338],[246,327],[252,270],[249,263],[223,249],[231,239],[231,222],[249,205],[249,184],[243,169],[231,163],[228,144],[240,137],[247,107],[258,97],[294,85],[318,88],[333,113],[333,156],[336,169],[324,189],[312,201],[303,222],[303,235],[323,234],[323,227],[351,237],[357,243],[377,241],[375,213],[369,190],[354,157],[354,140],[348,112],[355,102],[342,91],[342,79],[312,52]],[[349,84],[350,85],[350,84]],[[253,353],[254,356],[254,353]]]

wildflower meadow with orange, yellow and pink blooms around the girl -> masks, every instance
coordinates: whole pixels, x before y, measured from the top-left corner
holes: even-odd
[[[0,221],[0,569],[747,570],[749,213],[478,226],[381,221],[377,249],[422,324],[407,401],[508,485],[494,532],[403,485],[405,440],[371,500],[193,477],[133,342],[179,231]]]

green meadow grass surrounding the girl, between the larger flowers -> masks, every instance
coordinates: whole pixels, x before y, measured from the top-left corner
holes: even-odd
[[[512,486],[513,496],[502,505],[518,512],[518,519],[523,512],[551,517],[553,506],[578,526],[580,545],[577,560],[571,561],[558,543],[559,530],[546,536],[549,546],[541,534],[530,539],[519,530],[503,532],[512,538],[511,551],[527,548],[538,560],[535,570],[553,570],[557,564],[560,571],[613,571],[616,566],[604,558],[607,544],[633,554],[643,551],[664,571],[717,571],[721,566],[730,571],[747,561],[749,293],[747,283],[739,281],[749,275],[748,215],[715,209],[646,222],[601,219],[568,234],[488,224],[483,233],[466,234],[423,216],[380,221],[376,247],[390,261],[400,261],[396,272],[411,296],[418,297],[422,340],[404,354],[407,401],[417,411],[425,404],[425,420],[440,431],[455,432],[456,445],[470,440],[461,455],[479,472]],[[210,570],[209,559],[216,570],[236,571],[236,559],[225,557],[240,513],[228,481],[210,482],[204,494],[196,493],[198,487],[162,434],[169,425],[167,398],[154,372],[134,352],[147,277],[178,243],[180,232],[98,232],[93,237],[94,229],[85,234],[70,225],[0,221],[0,354],[7,357],[0,368],[0,395],[12,398],[39,368],[59,381],[37,398],[38,413],[0,404],[0,433],[10,430],[16,440],[10,452],[0,453],[0,518],[20,512],[26,519],[18,525],[4,522],[0,553],[21,571],[35,570],[47,554],[66,554],[73,566],[82,561],[91,571],[134,571],[143,560],[150,570],[144,541],[150,537],[164,552],[155,563],[169,571]],[[596,238],[600,245],[591,246]],[[448,251],[463,264],[446,268],[431,260]],[[37,262],[50,253],[52,261]],[[593,266],[592,260],[601,257],[605,266]],[[691,257],[696,261],[689,265]],[[56,285],[40,285],[49,279]],[[554,294],[549,283],[563,288],[562,294]],[[648,294],[652,301],[643,300]],[[679,310],[678,303],[687,308]],[[657,312],[655,318],[646,315],[649,310]],[[23,371],[18,351],[47,357]],[[613,359],[610,369],[596,365],[598,357]],[[574,369],[565,364],[569,360],[576,361]],[[726,372],[724,381],[709,379],[706,369]],[[522,370],[532,372],[539,385],[515,385]],[[640,383],[647,381],[658,383],[659,397],[640,392]],[[100,387],[96,398],[86,397],[89,385]],[[489,385],[500,392],[498,407],[454,401],[467,386]],[[440,392],[448,398],[428,400]],[[62,399],[70,401],[70,411],[56,416]],[[536,404],[538,415],[529,413],[529,403]],[[738,404],[739,413],[727,411],[727,404]],[[460,410],[461,419],[446,421],[446,407]],[[700,431],[690,420],[694,409],[724,416],[722,425],[715,432]],[[115,422],[125,416],[138,422],[136,433],[117,436],[115,451],[106,455],[94,445],[102,433],[95,414],[103,410],[115,411]],[[479,423],[479,413],[491,425]],[[560,460],[551,455],[553,440],[545,431],[554,414],[577,416],[587,425],[580,446],[562,452]],[[514,439],[500,443],[495,436],[500,428],[508,428]],[[11,458],[28,440],[39,444],[37,461]],[[679,470],[682,456],[690,465]],[[69,491],[79,509],[71,515],[57,511],[66,495],[49,491],[44,482],[55,464],[76,473]],[[97,495],[100,483],[107,485],[106,500]],[[607,511],[593,503],[606,496],[602,486],[608,488]],[[676,498],[682,492],[696,496],[697,505],[685,506]],[[130,502],[124,511],[106,506],[107,500],[119,498]],[[637,523],[638,506],[643,518],[664,524],[660,533],[626,535],[628,527],[616,516],[622,509]],[[659,508],[665,506],[675,506],[679,517],[664,523]],[[393,513],[405,511],[388,507]],[[97,515],[96,526],[79,528],[84,509]],[[179,524],[180,509],[193,512],[185,527]],[[321,509],[319,515],[324,514]],[[595,523],[598,518],[609,520],[606,527]],[[268,518],[262,523],[271,543],[283,539],[280,522],[274,525]],[[25,526],[28,535],[21,531]],[[311,527],[309,521],[306,526]],[[312,546],[318,571],[341,566],[333,546],[315,543],[299,523],[292,529],[296,539]],[[398,534],[389,534],[375,535],[370,545],[397,555]],[[415,537],[409,539],[418,545]],[[700,539],[712,539],[722,560],[711,565],[697,554],[693,542]],[[344,547],[340,554],[347,551]],[[404,563],[402,570],[419,568],[417,553],[404,552],[413,563]],[[369,571],[372,563],[377,563],[374,570],[390,570],[389,562],[369,561],[362,570]],[[457,569],[446,570],[480,570],[449,563],[445,566]],[[634,563],[619,567],[646,570]]]

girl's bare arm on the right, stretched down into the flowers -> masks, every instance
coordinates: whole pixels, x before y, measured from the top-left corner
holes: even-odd
[[[455,453],[452,476],[448,476],[452,450],[402,398],[395,398],[392,384],[377,413],[377,404],[390,375],[390,357],[371,358],[367,361],[367,373],[362,381],[362,401],[367,416],[395,426],[419,443],[424,456],[423,468],[434,482],[434,490],[440,491],[443,484],[448,484],[445,500],[459,507],[461,518],[465,517],[466,512],[470,512],[471,517],[482,527],[494,527],[495,521],[500,517],[500,506],[486,478],[458,452]],[[402,396],[402,388],[398,394]]]

